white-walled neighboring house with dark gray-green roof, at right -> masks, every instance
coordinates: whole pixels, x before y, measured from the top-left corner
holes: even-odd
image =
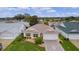
[[[55,29],[66,38],[79,39],[79,22],[63,22],[57,25]]]

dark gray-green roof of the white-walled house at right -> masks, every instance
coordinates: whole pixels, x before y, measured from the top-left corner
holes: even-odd
[[[65,33],[79,34],[79,22],[63,22],[57,27]]]

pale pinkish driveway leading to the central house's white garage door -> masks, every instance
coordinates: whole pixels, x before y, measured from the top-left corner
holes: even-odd
[[[57,40],[44,40],[46,51],[63,51],[64,49]]]

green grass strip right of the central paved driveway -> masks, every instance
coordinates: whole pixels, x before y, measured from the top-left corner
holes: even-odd
[[[66,51],[79,51],[79,49],[73,45],[69,40],[66,40],[61,34],[59,34],[60,40],[62,40],[63,43],[61,43],[62,47]]]

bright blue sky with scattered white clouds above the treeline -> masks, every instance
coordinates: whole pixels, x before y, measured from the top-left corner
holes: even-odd
[[[40,17],[79,16],[79,7],[0,7],[0,17],[25,13]]]

